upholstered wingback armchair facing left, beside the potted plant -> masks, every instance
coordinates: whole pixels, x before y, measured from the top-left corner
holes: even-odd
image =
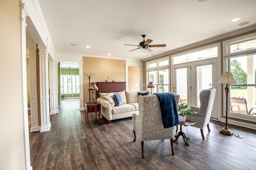
[[[187,116],[186,120],[195,121],[196,124],[192,125],[198,127],[201,130],[202,138],[204,139],[203,128],[207,126],[208,131],[210,132],[209,122],[212,113],[212,106],[215,97],[215,88],[209,88],[208,90],[202,90],[200,92],[200,107],[191,106],[190,109],[195,113],[192,114],[192,117]]]

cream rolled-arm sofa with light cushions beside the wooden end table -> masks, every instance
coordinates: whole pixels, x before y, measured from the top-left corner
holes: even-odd
[[[119,94],[122,104],[116,106],[113,94]],[[147,93],[149,92],[140,92]],[[128,92],[126,90],[121,92],[99,93],[100,98],[97,98],[97,103],[101,107],[101,115],[105,117],[109,123],[115,119],[132,117],[132,113],[139,112],[138,107],[138,92]]]

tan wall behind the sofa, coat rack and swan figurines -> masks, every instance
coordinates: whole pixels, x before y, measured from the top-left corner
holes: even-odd
[[[83,90],[84,102],[89,102],[89,80],[87,74],[94,74],[90,80],[92,82],[105,82],[111,81],[111,75],[116,82],[125,82],[125,61],[115,59],[102,59],[95,57],[83,57]],[[109,77],[109,78],[108,78]],[[96,94],[94,93],[95,100]],[[91,93],[92,101],[92,93]]]

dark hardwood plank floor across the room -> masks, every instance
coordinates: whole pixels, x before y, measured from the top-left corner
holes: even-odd
[[[108,121],[95,119],[89,113],[89,125],[79,101],[62,102],[60,113],[50,115],[52,127],[48,132],[30,133],[30,156],[33,170],[255,170],[256,132],[229,125],[235,135],[219,133],[224,123],[210,122],[211,132],[183,127],[190,146],[180,137],[174,143],[172,156],[170,140],[144,142],[141,158],[140,139],[133,142],[132,118]]]

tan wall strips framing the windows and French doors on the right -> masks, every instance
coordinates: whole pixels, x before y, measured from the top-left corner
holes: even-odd
[[[196,49],[196,48],[199,48],[199,47],[204,47],[206,45],[211,45],[211,44],[214,44],[214,43],[221,43],[221,46],[220,46],[220,48],[221,48],[220,49],[221,50],[221,56],[220,56],[221,57],[221,72],[223,72],[223,47],[222,47],[222,42],[226,41],[228,39],[233,39],[233,38],[236,38],[236,37],[241,37],[243,35],[248,35],[248,34],[255,33],[255,32],[256,32],[256,29],[254,29],[252,31],[245,32],[245,33],[240,33],[238,35],[234,35],[234,36],[231,36],[231,37],[226,37],[226,38],[223,38],[223,39],[219,39],[219,40],[216,40],[216,41],[212,41],[212,42],[209,42],[209,43],[198,45],[198,46],[195,46],[195,47],[191,47],[191,48],[188,48],[188,49],[185,49],[185,50],[177,51],[175,53],[170,53],[168,55],[164,55],[164,56],[157,57],[157,58],[154,58],[154,59],[149,59],[147,61],[143,61],[143,84],[146,84],[146,62],[152,61],[152,60],[155,60],[155,59],[161,59],[161,58],[166,57],[166,56],[174,55],[174,54],[177,54],[177,53],[182,53],[182,52],[189,51],[189,50],[192,50],[192,49]],[[143,87],[143,90],[146,90],[146,86]],[[223,90],[224,90],[224,88],[222,88],[222,94],[223,94]],[[223,106],[223,96],[222,96],[222,108],[223,107],[224,106]],[[223,113],[222,113],[222,118],[225,118],[225,116],[223,116]],[[240,122],[244,122],[244,123],[249,123],[249,124],[252,124],[252,125],[256,125],[256,122],[252,122],[252,121],[235,119],[235,118],[232,118],[232,117],[228,117],[228,119],[234,120],[234,121],[240,121]]]

